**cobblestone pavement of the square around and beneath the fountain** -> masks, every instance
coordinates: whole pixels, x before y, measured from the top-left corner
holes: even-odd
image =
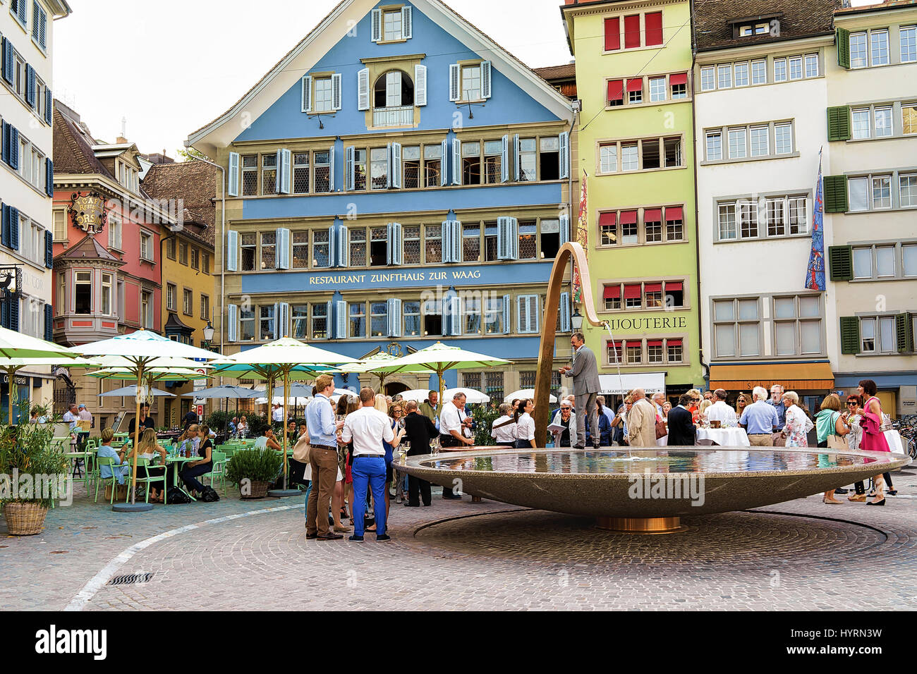
[[[0,609],[914,609],[917,476],[893,479],[882,508],[812,496],[663,536],[435,496],[392,503],[387,544],[306,541],[302,499],[116,514],[78,493],[40,536],[0,520]],[[140,572],[154,575],[105,584]]]

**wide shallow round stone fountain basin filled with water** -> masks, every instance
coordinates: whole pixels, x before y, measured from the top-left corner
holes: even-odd
[[[403,457],[394,467],[461,492],[539,510],[674,517],[783,503],[910,463],[904,454],[811,447],[473,447]]]

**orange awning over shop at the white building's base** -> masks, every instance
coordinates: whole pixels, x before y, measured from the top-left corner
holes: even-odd
[[[828,391],[834,388],[831,363],[759,363],[711,365],[710,388],[751,391],[780,384],[786,391]]]

